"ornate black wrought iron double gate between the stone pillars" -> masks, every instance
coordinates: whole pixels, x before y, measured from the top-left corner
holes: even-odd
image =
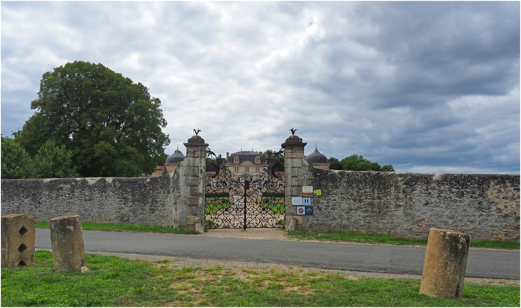
[[[217,164],[216,171],[206,173],[205,228],[284,228],[284,173],[275,171],[278,164],[270,162],[253,176],[237,176],[224,158],[209,148],[206,153]],[[283,156],[283,150],[275,155]]]

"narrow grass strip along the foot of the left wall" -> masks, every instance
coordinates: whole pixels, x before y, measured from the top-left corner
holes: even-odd
[[[39,221],[36,228],[48,229],[49,223]],[[113,232],[153,232],[153,233],[173,233],[173,234],[199,234],[193,230],[183,228],[163,227],[163,226],[146,226],[146,225],[128,225],[116,223],[88,223],[81,222],[81,229],[86,231],[113,231]]]

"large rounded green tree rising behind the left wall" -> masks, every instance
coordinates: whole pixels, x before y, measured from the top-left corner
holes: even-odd
[[[83,177],[152,174],[170,143],[160,105],[143,84],[74,61],[43,74],[35,113],[15,139],[31,156],[48,140],[65,145]]]

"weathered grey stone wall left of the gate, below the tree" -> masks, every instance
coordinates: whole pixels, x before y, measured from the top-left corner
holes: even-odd
[[[174,174],[148,178],[2,180],[2,215],[37,219],[80,215],[82,221],[175,225]]]

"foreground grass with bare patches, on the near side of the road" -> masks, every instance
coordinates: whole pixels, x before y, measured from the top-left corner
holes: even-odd
[[[512,306],[519,285],[465,283],[463,298],[419,294],[420,279],[357,278],[265,267],[174,267],[167,260],[86,254],[92,270],[54,273],[52,253],[35,266],[2,267],[2,306]],[[245,278],[239,278],[243,272]]]

